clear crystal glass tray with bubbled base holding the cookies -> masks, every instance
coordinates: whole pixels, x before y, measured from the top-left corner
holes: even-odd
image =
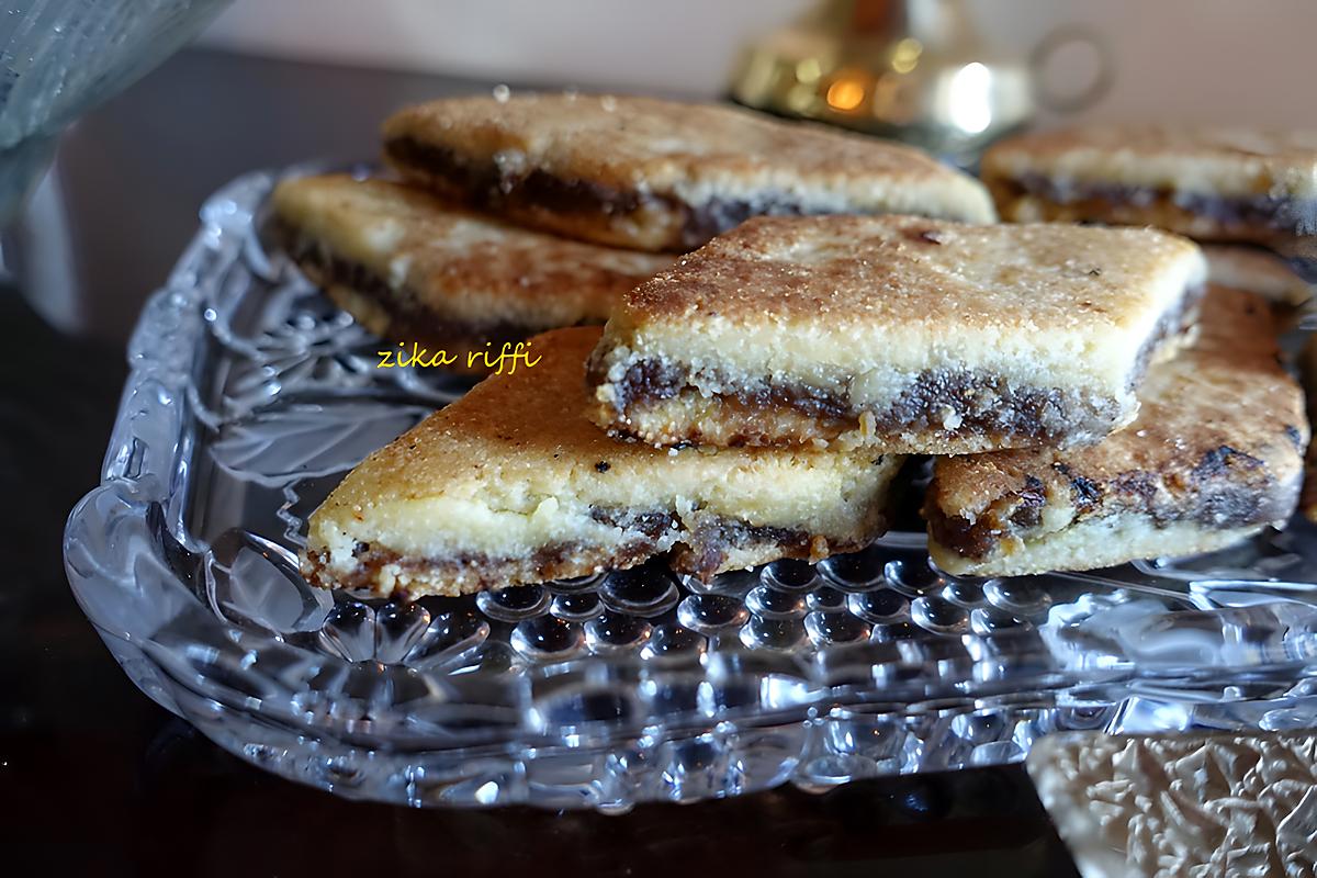
[[[204,205],[65,544],[124,670],[225,749],[346,796],[622,811],[1011,762],[1054,731],[1317,724],[1299,521],[1019,579],[947,577],[894,532],[707,586],[649,565],[410,606],[308,587],[309,512],[468,384],[377,369],[378,341],[266,250],[278,176]]]

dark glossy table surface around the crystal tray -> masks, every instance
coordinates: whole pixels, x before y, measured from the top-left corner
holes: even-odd
[[[21,288],[0,287],[0,871],[1075,875],[1018,766],[622,816],[408,811],[266,775],[119,670],[61,534],[97,479],[126,334],[202,199],[253,167],[369,157],[390,109],[482,88],[191,50],[66,138],[8,241]]]

